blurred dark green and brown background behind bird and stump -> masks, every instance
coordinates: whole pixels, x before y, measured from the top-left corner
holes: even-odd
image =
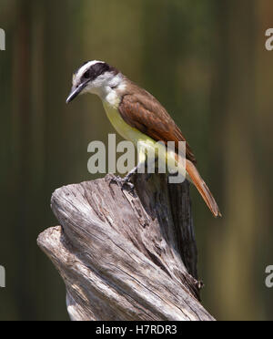
[[[153,93],[196,153],[224,215],[192,189],[207,310],[273,320],[272,26],[271,0],[0,0],[0,320],[68,319],[64,283],[35,241],[57,224],[52,192],[95,179],[87,145],[114,132],[98,98],[66,106],[89,59]]]

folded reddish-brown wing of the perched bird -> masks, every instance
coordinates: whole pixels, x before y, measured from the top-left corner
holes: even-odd
[[[186,141],[174,120],[156,98],[131,82],[128,83],[126,90],[128,94],[122,98],[119,112],[128,125],[156,141],[163,141],[166,144],[167,141],[174,141],[176,149],[178,141]],[[194,164],[197,163],[188,144],[186,158]]]

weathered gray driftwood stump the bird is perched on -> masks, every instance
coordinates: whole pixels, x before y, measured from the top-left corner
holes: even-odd
[[[197,247],[187,181],[116,177],[63,187],[52,209],[61,226],[38,245],[66,283],[73,320],[214,320],[199,303]]]

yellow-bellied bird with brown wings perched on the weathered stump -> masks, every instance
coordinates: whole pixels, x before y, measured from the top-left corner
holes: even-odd
[[[66,102],[69,103],[84,93],[96,94],[102,99],[106,115],[116,131],[135,145],[138,140],[149,145],[156,145],[157,141],[165,144],[173,141],[177,148],[179,141],[186,141],[174,120],[156,98],[106,62],[89,61],[78,68]],[[187,178],[197,187],[214,216],[220,217],[217,202],[198,173],[196,164],[197,160],[187,144]]]

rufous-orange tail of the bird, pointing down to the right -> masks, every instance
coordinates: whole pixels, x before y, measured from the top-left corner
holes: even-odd
[[[186,161],[187,161],[186,162],[187,174],[189,175],[190,179],[196,186],[202,198],[207,203],[207,207],[209,208],[209,210],[213,213],[213,215],[216,218],[222,217],[222,214],[219,211],[219,208],[217,206],[216,200],[213,198],[213,195],[211,194],[210,190],[208,190],[208,187],[205,181],[201,178],[199,172],[197,171],[197,168],[190,160],[186,160]]]

